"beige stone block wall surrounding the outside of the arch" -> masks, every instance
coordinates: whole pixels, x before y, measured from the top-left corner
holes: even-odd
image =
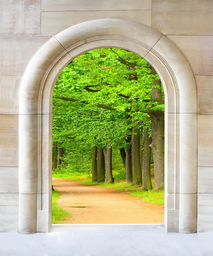
[[[213,1],[2,0],[0,3],[0,231],[18,225],[19,86],[51,36],[100,18],[135,20],[185,55],[198,87],[198,232],[213,230]]]

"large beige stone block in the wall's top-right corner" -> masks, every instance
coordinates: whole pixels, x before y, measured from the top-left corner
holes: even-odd
[[[213,35],[212,0],[152,0],[152,27],[163,35]]]

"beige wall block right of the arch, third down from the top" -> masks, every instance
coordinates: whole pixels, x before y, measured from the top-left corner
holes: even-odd
[[[213,76],[195,76],[198,89],[198,113],[213,114]]]

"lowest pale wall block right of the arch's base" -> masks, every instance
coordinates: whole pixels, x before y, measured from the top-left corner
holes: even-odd
[[[197,232],[213,231],[213,206],[199,206],[197,215]]]

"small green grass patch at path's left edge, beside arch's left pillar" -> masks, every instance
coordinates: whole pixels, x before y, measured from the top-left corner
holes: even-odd
[[[56,224],[59,221],[64,221],[69,213],[57,205],[57,201],[60,198],[60,193],[57,191],[52,192],[52,223]]]

